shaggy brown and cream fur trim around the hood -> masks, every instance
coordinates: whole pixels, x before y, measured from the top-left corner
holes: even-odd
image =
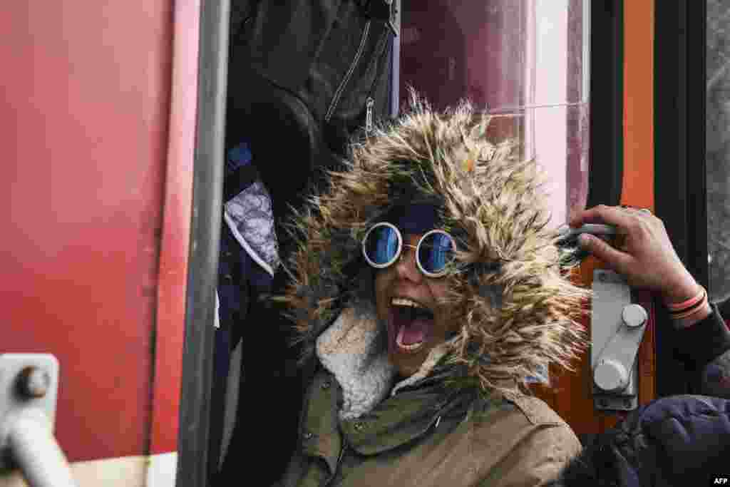
[[[585,348],[576,320],[590,291],[569,281],[572,267],[548,229],[544,175],[515,142],[488,140],[490,120],[469,101],[436,112],[412,92],[410,112],[353,143],[345,169],[296,215],[293,283],[282,299],[305,357],[343,310],[373,308],[374,269],[361,258],[369,226],[395,205],[423,201],[439,208],[458,246],[442,277],[461,322],[439,357],[448,375],[488,392],[525,386],[550,364],[570,368]]]

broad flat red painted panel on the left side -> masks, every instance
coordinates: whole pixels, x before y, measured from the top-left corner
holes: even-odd
[[[159,262],[163,202],[189,199],[185,183],[166,189],[172,22],[169,0],[0,7],[0,352],[60,361],[70,461],[149,448],[158,270],[185,274]],[[155,348],[182,351],[174,337]]]

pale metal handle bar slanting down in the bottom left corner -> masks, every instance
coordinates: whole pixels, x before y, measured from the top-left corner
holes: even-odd
[[[31,487],[76,487],[69,462],[51,433],[46,415],[25,408],[3,425],[10,459]]]

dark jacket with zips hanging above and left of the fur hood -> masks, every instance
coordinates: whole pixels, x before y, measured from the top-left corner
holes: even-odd
[[[393,4],[248,1],[231,34],[228,139],[246,134],[277,221],[390,109]],[[282,177],[285,172],[286,177]],[[287,253],[286,234],[283,253]]]

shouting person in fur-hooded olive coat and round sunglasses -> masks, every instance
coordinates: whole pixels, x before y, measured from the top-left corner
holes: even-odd
[[[585,348],[590,291],[488,123],[413,94],[296,218],[283,300],[315,372],[284,486],[537,486],[580,453],[527,384]]]

